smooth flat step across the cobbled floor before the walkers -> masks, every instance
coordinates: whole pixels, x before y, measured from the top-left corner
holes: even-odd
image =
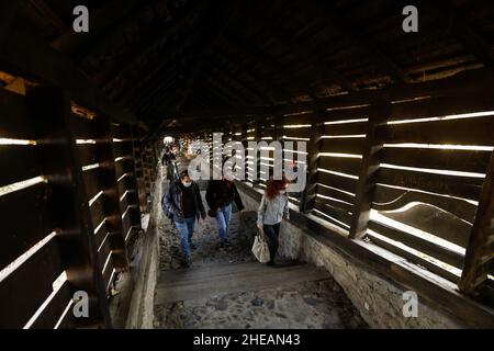
[[[156,287],[155,303],[201,299],[329,278],[324,269],[297,262],[277,267],[243,262],[164,271]]]

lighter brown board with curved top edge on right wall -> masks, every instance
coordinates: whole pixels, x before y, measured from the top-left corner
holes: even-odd
[[[415,204],[405,212],[382,213],[382,215],[433,234],[465,248],[472,226],[457,216],[427,204]]]

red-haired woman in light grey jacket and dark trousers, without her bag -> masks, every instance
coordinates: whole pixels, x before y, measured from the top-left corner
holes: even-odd
[[[274,265],[283,215],[287,219],[290,218],[289,197],[287,194],[289,185],[290,181],[284,176],[281,180],[270,180],[257,211],[257,226],[265,231],[268,240],[271,257],[268,265]]]

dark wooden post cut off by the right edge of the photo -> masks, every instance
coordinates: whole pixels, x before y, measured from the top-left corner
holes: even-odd
[[[476,208],[464,257],[459,287],[467,294],[479,294],[494,268],[494,154],[491,155],[486,177]]]

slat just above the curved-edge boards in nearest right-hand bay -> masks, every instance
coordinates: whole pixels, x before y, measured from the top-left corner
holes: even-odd
[[[480,195],[482,185],[482,179],[480,178],[424,173],[382,167],[379,169],[378,182],[475,201]]]

